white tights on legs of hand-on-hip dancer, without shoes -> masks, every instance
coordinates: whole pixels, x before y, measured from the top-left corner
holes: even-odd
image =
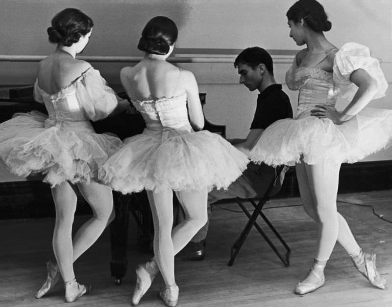
[[[337,211],[340,166],[330,162],[316,165],[301,162],[295,166],[304,210],[319,224],[315,259],[320,261],[329,259],[336,241],[348,254],[360,250],[346,220]]]

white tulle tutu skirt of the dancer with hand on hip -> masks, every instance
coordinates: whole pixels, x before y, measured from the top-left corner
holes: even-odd
[[[392,110],[365,108],[341,125],[307,115],[270,125],[250,152],[255,163],[354,163],[391,145]]]

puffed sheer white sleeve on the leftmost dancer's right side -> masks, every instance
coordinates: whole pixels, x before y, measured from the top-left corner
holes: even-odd
[[[98,70],[90,67],[78,81],[75,83],[76,96],[89,119],[103,119],[116,109],[118,97]]]

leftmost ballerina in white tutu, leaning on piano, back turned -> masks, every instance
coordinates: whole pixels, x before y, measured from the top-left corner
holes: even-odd
[[[53,252],[56,263],[47,263],[48,278],[36,293],[44,296],[63,278],[65,300],[73,302],[90,286],[75,280],[73,262],[100,236],[114,218],[110,187],[96,181],[98,169],[114,154],[119,138],[97,134],[91,120],[129,108],[89,63],[76,60],[88,44],[93,21],[81,11],[65,9],[52,19],[49,41],[56,50],[39,64],[35,100],[41,112],[17,113],[0,125],[0,157],[12,173],[28,176],[43,173],[51,186],[56,208]],[[73,216],[78,189],[93,210],[72,240]],[[61,276],[60,276],[61,274]]]

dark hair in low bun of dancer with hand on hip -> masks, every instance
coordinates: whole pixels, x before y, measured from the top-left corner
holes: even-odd
[[[286,13],[287,19],[297,23],[302,18],[304,22],[315,32],[331,30],[332,23],[323,6],[316,0],[296,1]]]

